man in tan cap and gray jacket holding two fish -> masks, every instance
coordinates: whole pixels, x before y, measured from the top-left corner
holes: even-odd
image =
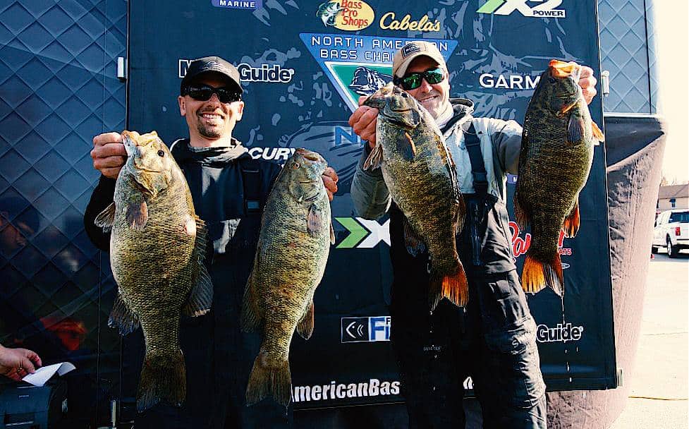
[[[444,300],[431,311],[428,254],[408,253],[406,221],[382,172],[362,168],[375,145],[379,111],[360,106],[352,114],[353,130],[369,141],[352,182],[353,203],[367,219],[390,215],[390,332],[409,428],[464,428],[464,380],[471,376],[484,428],[544,429],[536,326],[513,262],[505,201],[507,173],[517,173],[522,128],[515,121],[474,118],[472,101],[451,99],[447,65],[432,43],[410,42],[399,49],[393,74],[394,83],[429,111],[444,134],[468,207],[457,241],[468,304],[458,308]],[[581,69],[579,85],[590,103],[596,95],[591,68]]]

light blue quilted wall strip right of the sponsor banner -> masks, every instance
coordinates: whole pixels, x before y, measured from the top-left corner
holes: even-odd
[[[653,0],[599,0],[601,69],[610,72],[607,112],[655,114],[658,80]]]

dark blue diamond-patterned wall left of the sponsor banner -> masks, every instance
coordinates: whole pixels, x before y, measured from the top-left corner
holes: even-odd
[[[88,240],[83,213],[99,178],[92,138],[126,119],[116,57],[126,53],[127,6],[0,5],[0,342],[74,363],[70,413],[90,421],[117,385],[119,337],[107,327],[107,255]]]

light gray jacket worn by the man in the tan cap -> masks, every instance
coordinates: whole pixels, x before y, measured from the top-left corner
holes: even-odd
[[[463,98],[450,99],[454,115],[444,130],[447,147],[456,164],[457,178],[462,193],[473,193],[469,154],[464,145],[464,133],[470,123],[480,135],[485,162],[488,192],[505,203],[507,174],[517,174],[522,127],[516,121],[493,118],[474,118],[472,101]],[[366,144],[352,181],[351,195],[357,213],[365,219],[377,219],[385,214],[391,203],[390,193],[383,181],[380,169],[364,171],[363,165],[370,154]]]

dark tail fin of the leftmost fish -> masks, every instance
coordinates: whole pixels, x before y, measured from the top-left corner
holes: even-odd
[[[139,412],[150,409],[161,399],[181,406],[187,394],[184,356],[180,349],[171,356],[146,354],[136,399]]]

